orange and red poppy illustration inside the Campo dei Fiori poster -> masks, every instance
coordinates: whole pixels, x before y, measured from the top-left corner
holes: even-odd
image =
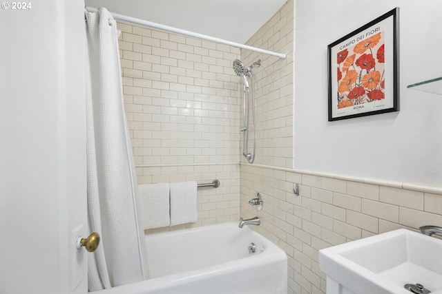
[[[385,98],[384,34],[372,34],[336,54],[339,109]]]

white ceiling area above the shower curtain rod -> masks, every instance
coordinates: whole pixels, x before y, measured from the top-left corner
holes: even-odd
[[[287,0],[85,0],[86,6],[244,44]]]

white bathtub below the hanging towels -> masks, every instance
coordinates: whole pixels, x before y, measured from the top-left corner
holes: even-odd
[[[237,222],[146,235],[151,278],[100,294],[286,294],[287,256]],[[251,243],[255,253],[249,253]]]

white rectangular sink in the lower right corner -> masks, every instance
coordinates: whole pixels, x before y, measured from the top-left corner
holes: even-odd
[[[442,240],[398,229],[319,251],[327,294],[410,294],[422,284],[442,294]]]

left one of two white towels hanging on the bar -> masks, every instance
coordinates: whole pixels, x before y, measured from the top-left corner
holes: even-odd
[[[143,228],[168,227],[170,222],[168,182],[138,185],[143,217]]]

